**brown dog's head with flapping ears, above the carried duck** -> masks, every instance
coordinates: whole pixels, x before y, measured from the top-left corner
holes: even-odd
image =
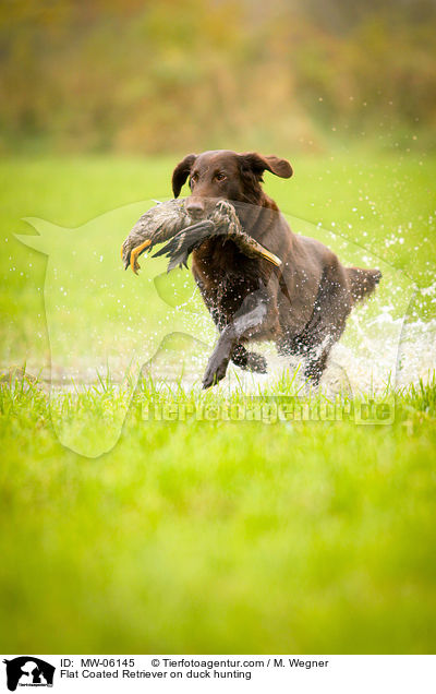
[[[174,198],[178,198],[189,179],[191,199],[186,208],[194,217],[204,214],[207,200],[230,200],[258,205],[262,204],[261,183],[264,171],[281,178],[292,176],[289,161],[256,152],[237,154],[217,149],[198,155],[189,154],[172,174],[172,191]]]

